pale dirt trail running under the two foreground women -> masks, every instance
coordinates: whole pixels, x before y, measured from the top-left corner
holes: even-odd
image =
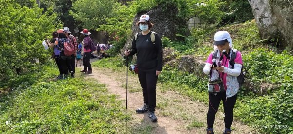
[[[111,73],[109,73],[111,72]],[[105,68],[93,67],[93,74],[84,75],[106,84],[111,94],[126,104],[126,71],[118,72]],[[208,106],[198,101],[191,101],[173,91],[161,91],[157,88],[156,114],[158,122],[153,123],[148,114],[136,114],[135,109],[143,104],[143,96],[137,75],[128,75],[128,111],[131,112],[133,128],[150,127],[151,134],[205,134],[206,113]],[[223,134],[224,113],[218,112],[214,122],[215,134]],[[250,128],[238,121],[232,124],[233,134],[253,134]]]

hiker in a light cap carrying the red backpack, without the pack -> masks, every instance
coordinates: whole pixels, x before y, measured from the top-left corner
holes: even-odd
[[[65,31],[65,35],[70,39],[70,42],[74,46],[74,54],[71,55],[71,68],[72,68],[72,71],[71,71],[71,74],[70,74],[70,76],[72,78],[74,78],[74,74],[75,74],[75,56],[76,56],[76,52],[77,52],[77,42],[76,42],[76,38],[73,35],[70,34],[71,32],[70,32],[68,27],[64,27],[63,29]]]

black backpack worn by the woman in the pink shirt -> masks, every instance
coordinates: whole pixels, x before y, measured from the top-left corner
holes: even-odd
[[[234,69],[234,65],[235,65],[234,60],[237,56],[238,50],[237,49],[231,49],[231,50],[232,50],[232,55],[231,55],[231,58],[228,57],[228,59],[229,59],[229,64],[232,65],[232,69]],[[212,55],[212,59],[215,59],[217,57],[217,55],[218,55],[218,50],[215,50]],[[239,89],[241,89],[242,84],[244,83],[245,74],[246,74],[246,69],[242,64],[240,75],[237,76],[237,81],[239,83]]]

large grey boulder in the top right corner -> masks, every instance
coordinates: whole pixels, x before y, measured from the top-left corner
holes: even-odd
[[[293,50],[293,1],[248,0],[262,39],[278,39]]]

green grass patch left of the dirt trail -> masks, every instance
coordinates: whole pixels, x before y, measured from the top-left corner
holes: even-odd
[[[38,81],[1,95],[0,133],[128,132],[131,117],[105,84],[82,77],[51,81],[57,69],[42,70]]]

